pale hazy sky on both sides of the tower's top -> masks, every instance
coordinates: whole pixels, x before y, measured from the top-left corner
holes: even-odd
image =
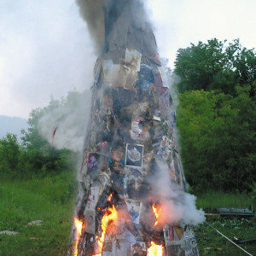
[[[256,46],[254,0],[148,0],[160,55],[210,38]],[[89,89],[96,54],[75,0],[0,0],[0,115],[28,118],[69,90]]]

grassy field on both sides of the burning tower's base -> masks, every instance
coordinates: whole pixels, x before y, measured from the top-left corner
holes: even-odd
[[[19,232],[15,236],[0,235],[0,255],[66,255],[73,219],[74,178],[61,174],[27,181],[0,181],[0,231]],[[216,207],[251,207],[247,195],[207,192],[198,195],[197,206],[206,212]],[[43,220],[40,226],[26,226],[33,220]],[[255,218],[209,217],[207,221],[231,239],[256,237]],[[224,240],[207,224],[195,227],[201,255],[246,255]],[[256,254],[253,244],[245,244]]]

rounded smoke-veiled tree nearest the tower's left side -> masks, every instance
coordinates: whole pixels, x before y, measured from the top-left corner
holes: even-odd
[[[30,166],[26,169],[33,169],[33,172],[48,173],[48,172],[63,172],[74,167],[78,155],[66,148],[56,149],[51,146],[38,131],[38,121],[44,114],[53,111],[56,108],[65,106],[69,108],[73,102],[81,96],[77,91],[68,93],[67,98],[61,98],[61,101],[51,98],[49,105],[45,108],[37,108],[32,110],[27,131],[21,131],[23,134],[22,144],[26,148],[26,157]],[[65,116],[62,116],[65,119]],[[50,129],[50,128],[49,128]]]

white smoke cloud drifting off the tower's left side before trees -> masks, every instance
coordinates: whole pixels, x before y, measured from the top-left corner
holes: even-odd
[[[47,110],[38,120],[42,137],[55,148],[67,148],[81,152],[86,126],[90,118],[90,90],[75,97],[75,100],[57,104]],[[53,132],[55,131],[55,136]]]

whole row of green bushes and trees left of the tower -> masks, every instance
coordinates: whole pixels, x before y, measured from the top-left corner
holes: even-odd
[[[60,173],[75,168],[78,155],[66,148],[56,149],[51,146],[38,131],[38,120],[44,114],[65,106],[69,108],[81,94],[73,91],[61,101],[51,99],[45,108],[32,110],[28,119],[29,128],[21,131],[22,145],[17,137],[8,134],[0,140],[0,175],[1,177],[43,177],[49,173]],[[65,116],[62,117],[65,119]],[[50,129],[50,128],[49,128]]]

